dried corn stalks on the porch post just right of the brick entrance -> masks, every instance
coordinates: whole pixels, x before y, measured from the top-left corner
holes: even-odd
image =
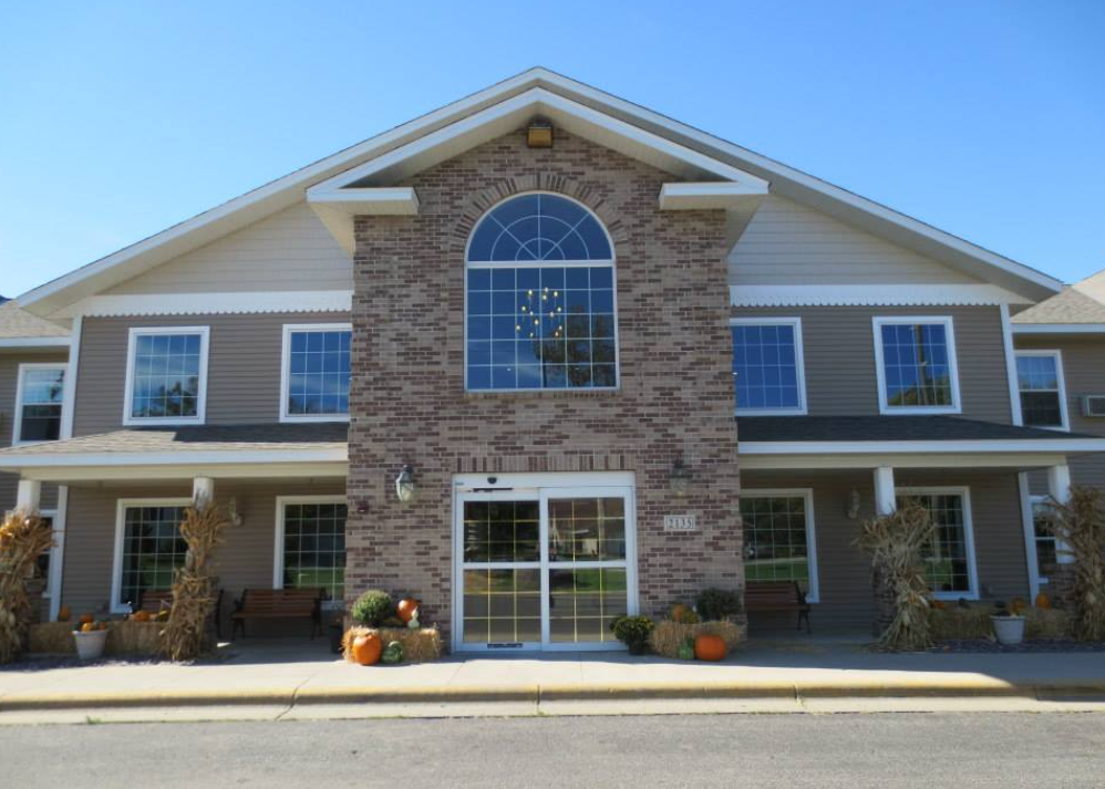
[[[876,586],[882,586],[877,593],[888,595],[892,606],[879,637],[888,650],[922,650],[932,643],[922,551],[933,530],[932,516],[915,499],[864,523],[857,544],[871,557]]]

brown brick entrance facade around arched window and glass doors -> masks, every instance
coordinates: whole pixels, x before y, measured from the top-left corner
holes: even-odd
[[[724,211],[659,210],[644,164],[557,129],[518,131],[406,181],[414,217],[358,217],[347,594],[412,593],[450,627],[453,475],[633,471],[641,611],[743,585]],[[464,249],[484,211],[543,189],[589,206],[615,239],[620,391],[468,394]],[[674,499],[682,456],[692,491]],[[403,505],[393,480],[414,466]],[[363,511],[362,511],[363,510]],[[665,534],[663,516],[700,530]]]

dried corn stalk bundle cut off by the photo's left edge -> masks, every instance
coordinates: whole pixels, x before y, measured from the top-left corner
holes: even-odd
[[[23,651],[32,613],[23,582],[51,546],[53,532],[38,512],[18,510],[0,526],[0,663]]]

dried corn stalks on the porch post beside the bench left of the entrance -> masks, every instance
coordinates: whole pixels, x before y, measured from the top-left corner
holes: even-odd
[[[161,633],[162,652],[169,660],[195,660],[208,646],[207,621],[217,600],[215,554],[226,525],[226,515],[215,505],[185,510],[180,536],[188,552],[174,574],[173,608]]]

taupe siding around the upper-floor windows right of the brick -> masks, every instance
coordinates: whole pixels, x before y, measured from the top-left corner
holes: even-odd
[[[875,370],[876,315],[950,315],[964,418],[1011,424],[1001,312],[996,307],[740,308],[740,318],[802,319],[806,402],[812,416],[879,413]]]

